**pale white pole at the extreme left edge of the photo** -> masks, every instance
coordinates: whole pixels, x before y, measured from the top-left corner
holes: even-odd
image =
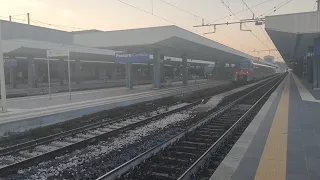
[[[6,82],[4,77],[4,62],[2,53],[1,21],[0,21],[0,83],[1,83],[1,106],[2,112],[7,112]]]

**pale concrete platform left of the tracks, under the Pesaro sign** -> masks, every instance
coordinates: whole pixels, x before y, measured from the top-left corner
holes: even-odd
[[[116,107],[155,100],[172,95],[187,94],[200,89],[230,83],[222,80],[191,80],[189,85],[173,82],[159,90],[152,85],[135,86],[134,89],[108,88],[90,91],[11,98],[7,100],[8,112],[0,113],[0,136],[12,132],[50,125]]]

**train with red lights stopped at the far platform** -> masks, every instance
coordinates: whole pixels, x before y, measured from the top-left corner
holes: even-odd
[[[253,62],[250,59],[240,61],[240,66],[236,68],[233,81],[255,81],[277,72],[277,66],[266,62]]]

